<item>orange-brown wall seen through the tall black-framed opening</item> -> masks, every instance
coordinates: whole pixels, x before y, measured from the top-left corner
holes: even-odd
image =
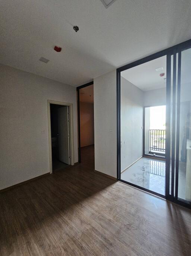
[[[94,144],[94,104],[80,102],[80,145]]]

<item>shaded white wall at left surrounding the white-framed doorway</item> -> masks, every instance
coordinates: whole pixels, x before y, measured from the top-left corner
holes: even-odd
[[[0,91],[0,189],[50,171],[47,99],[73,103],[78,162],[75,87],[0,64]]]

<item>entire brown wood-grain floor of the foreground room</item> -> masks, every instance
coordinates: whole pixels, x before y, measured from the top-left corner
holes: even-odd
[[[97,174],[90,162],[0,194],[1,256],[191,255],[190,210]]]

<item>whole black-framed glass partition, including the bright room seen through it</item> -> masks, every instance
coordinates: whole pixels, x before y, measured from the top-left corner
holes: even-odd
[[[190,68],[188,40],[117,69],[118,180],[186,207],[191,207]],[[156,106],[163,117],[157,117]]]

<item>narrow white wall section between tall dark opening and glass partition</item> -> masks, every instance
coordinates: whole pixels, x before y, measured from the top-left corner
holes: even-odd
[[[94,79],[95,170],[117,177],[116,70]]]

